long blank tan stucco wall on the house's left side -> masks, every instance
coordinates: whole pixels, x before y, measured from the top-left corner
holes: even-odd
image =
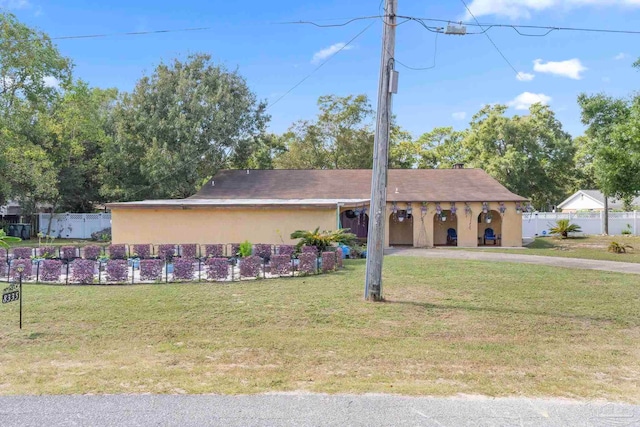
[[[295,230],[336,228],[335,208],[115,208],[111,215],[113,243],[288,244]]]

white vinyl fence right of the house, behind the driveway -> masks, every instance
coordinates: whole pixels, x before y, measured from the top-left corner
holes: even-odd
[[[568,219],[582,229],[580,234],[604,234],[603,212],[551,213],[535,212],[522,215],[522,237],[548,236],[549,228],[557,220]],[[609,212],[609,234],[620,235],[623,230],[640,234],[640,212]]]

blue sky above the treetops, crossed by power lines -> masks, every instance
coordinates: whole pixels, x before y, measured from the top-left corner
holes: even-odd
[[[482,23],[640,28],[640,0],[467,0]],[[378,14],[379,0],[284,0],[279,2],[182,0],[0,0],[30,26],[52,37],[185,27],[212,30],[102,39],[60,40],[75,74],[99,87],[131,90],[161,60],[207,52],[238,71],[259,98],[273,102],[317,65],[321,51],[346,43],[371,21],[316,28],[276,22],[351,18]],[[398,14],[471,19],[460,0],[399,0]],[[325,22],[323,22],[325,23]],[[328,21],[326,23],[329,23]],[[382,23],[375,22],[349,49],[338,53],[292,93],[270,108],[270,129],[285,131],[313,118],[321,95],[367,94],[375,105]],[[473,31],[472,28],[469,28]],[[523,114],[543,100],[573,135],[582,133],[576,97],[581,92],[625,96],[638,88],[631,68],[640,56],[640,35],[553,32],[522,37],[512,29],[489,33],[521,79],[483,35],[440,35],[436,67],[400,71],[394,98],[398,122],[414,136],[436,126],[463,128],[486,103],[511,105]],[[432,65],[435,34],[413,22],[398,27],[396,58],[413,67]],[[316,60],[314,60],[314,55]],[[524,80],[524,81],[523,81]]]

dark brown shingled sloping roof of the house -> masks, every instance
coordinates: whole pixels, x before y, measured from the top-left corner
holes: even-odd
[[[526,201],[481,169],[392,169],[390,202]],[[189,199],[369,199],[371,170],[223,170]],[[186,199],[185,201],[188,201]]]

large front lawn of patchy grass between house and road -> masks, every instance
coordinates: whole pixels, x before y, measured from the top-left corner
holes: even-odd
[[[637,278],[389,257],[233,284],[25,287],[0,394],[386,392],[640,402]]]

